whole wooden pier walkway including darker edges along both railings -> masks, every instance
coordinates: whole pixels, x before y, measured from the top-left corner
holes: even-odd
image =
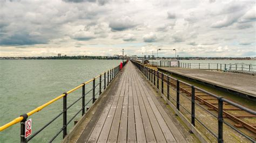
[[[197,142],[128,62],[64,142]]]

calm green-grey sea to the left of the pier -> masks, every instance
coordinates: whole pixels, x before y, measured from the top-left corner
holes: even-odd
[[[0,126],[119,63],[120,60],[0,60]],[[87,90],[89,88],[91,84],[86,87]],[[68,106],[81,96],[81,90],[68,95]],[[68,120],[81,108],[81,104],[77,103],[69,109]],[[61,99],[29,117],[32,118],[32,132],[60,112]],[[31,142],[48,142],[61,127],[62,117],[46,127]],[[73,121],[68,126],[69,129],[71,127]],[[0,142],[19,142],[19,130],[20,124],[16,124],[0,132]],[[61,139],[62,133],[56,141]]]

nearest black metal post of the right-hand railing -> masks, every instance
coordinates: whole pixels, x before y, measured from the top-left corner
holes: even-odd
[[[218,142],[223,142],[223,97],[218,99]]]

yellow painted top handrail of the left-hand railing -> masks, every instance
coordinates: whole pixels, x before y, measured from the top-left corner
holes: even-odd
[[[110,70],[111,70],[111,69],[110,69]],[[104,72],[104,73],[105,73],[105,72]],[[103,75],[104,73],[102,73],[102,74],[100,74],[100,75]],[[73,89],[69,90],[68,92],[66,92],[66,94],[70,94],[71,92],[73,92],[73,91],[79,89],[80,87],[83,87],[83,85],[90,83],[91,81],[93,81],[93,79],[98,78],[100,75],[96,76],[95,78],[92,78],[92,79],[89,80],[89,81],[84,82],[83,84],[78,85],[76,88],[73,88]],[[36,109],[34,109],[34,110],[32,110],[32,111],[26,113],[26,115],[31,116],[31,115],[33,115],[34,113],[41,111],[41,110],[44,109],[46,106],[52,104],[53,102],[56,102],[58,99],[60,99],[60,98],[62,98],[62,97],[64,97],[64,96],[65,96],[65,94],[62,94],[62,95],[60,95],[60,96],[58,96],[58,97],[52,99],[51,101],[49,101],[49,102],[47,102],[47,103],[45,103],[45,104],[43,104],[43,105],[41,105],[41,106],[38,106]],[[15,125],[15,124],[21,122],[22,120],[23,120],[23,117],[17,117],[17,118],[15,118],[14,120],[10,121],[9,123],[7,123],[7,124],[5,124],[5,125],[3,125],[3,126],[0,126],[0,132],[1,132],[1,131],[4,131],[6,128],[8,128],[8,127],[10,127],[10,126],[12,126],[12,125]]]

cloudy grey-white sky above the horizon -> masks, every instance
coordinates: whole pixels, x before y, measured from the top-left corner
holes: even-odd
[[[0,56],[256,56],[251,0],[0,0]]]

